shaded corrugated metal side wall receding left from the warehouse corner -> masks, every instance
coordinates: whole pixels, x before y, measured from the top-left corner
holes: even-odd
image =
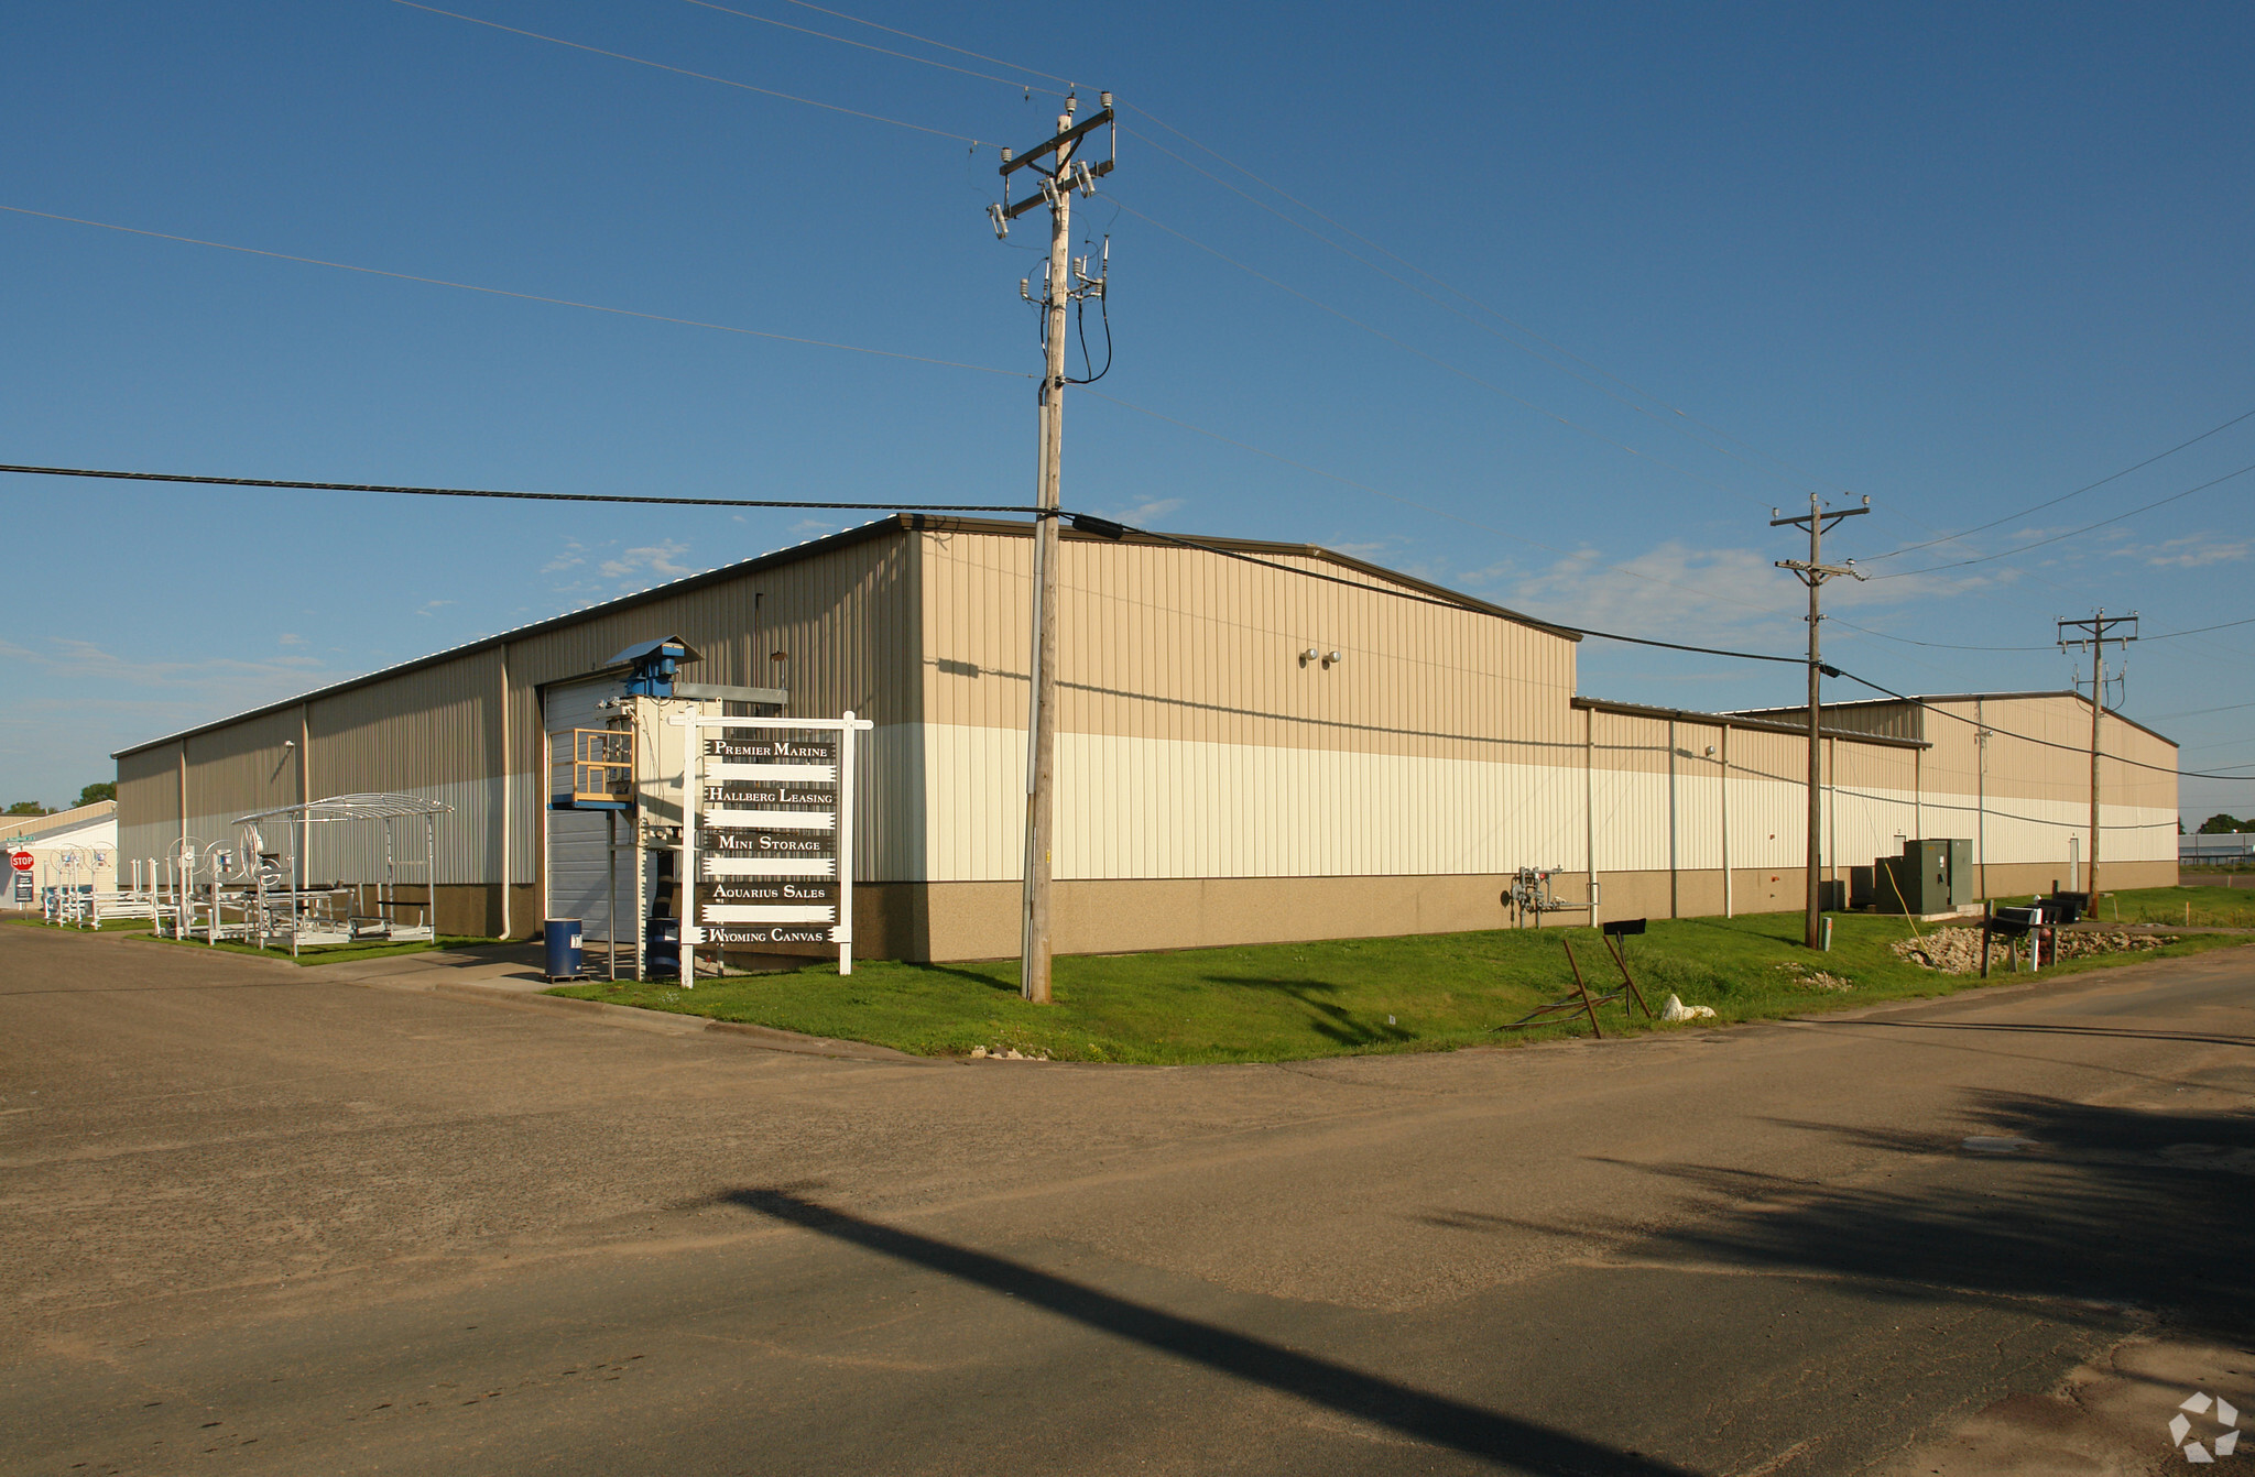
[[[816,552],[798,564],[753,571],[582,622],[534,631],[503,647],[467,652],[347,688],[307,704],[237,719],[187,744],[187,832],[207,843],[235,841],[241,814],[354,791],[401,791],[444,801],[437,882],[492,884],[539,877],[539,807],[546,785],[537,690],[584,674],[616,652],[658,636],[681,636],[704,661],[688,679],[787,686],[792,710],[834,717],[857,708],[879,724],[913,724],[916,683],[913,561],[902,537],[875,537]],[[782,652],[785,661],[773,661]],[[304,762],[284,744],[304,733]],[[877,735],[884,737],[882,733]],[[873,787],[864,791],[864,868],[916,846],[920,805],[895,789],[913,778],[920,744],[909,733],[886,753],[879,742]],[[178,742],[120,758],[120,812],[133,852],[162,855],[180,837]],[[503,778],[503,773],[507,778]],[[507,794],[507,805],[503,805]],[[891,816],[907,814],[904,823]],[[419,882],[422,834],[413,852]],[[383,834],[356,825],[311,828],[311,877],[370,882],[381,875]],[[507,848],[503,848],[507,839]],[[503,861],[503,850],[507,861]]]

